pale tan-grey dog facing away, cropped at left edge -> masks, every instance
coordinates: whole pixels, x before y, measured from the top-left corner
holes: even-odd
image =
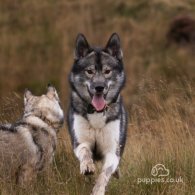
[[[0,174],[16,176],[20,185],[29,184],[37,171],[48,165],[56,148],[56,133],[64,114],[54,87],[47,93],[24,94],[24,115],[14,124],[0,125]]]

